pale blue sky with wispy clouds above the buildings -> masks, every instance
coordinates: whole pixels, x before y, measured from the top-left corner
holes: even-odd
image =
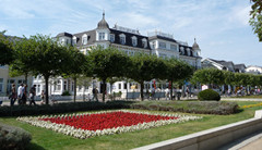
[[[249,0],[0,0],[0,30],[26,37],[94,29],[106,11],[112,27],[155,29],[190,46],[203,58],[262,66],[262,42],[249,26]]]

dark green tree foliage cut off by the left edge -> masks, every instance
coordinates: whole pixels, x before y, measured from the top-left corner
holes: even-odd
[[[0,65],[11,64],[15,57],[11,38],[4,36],[5,32],[0,32]]]

